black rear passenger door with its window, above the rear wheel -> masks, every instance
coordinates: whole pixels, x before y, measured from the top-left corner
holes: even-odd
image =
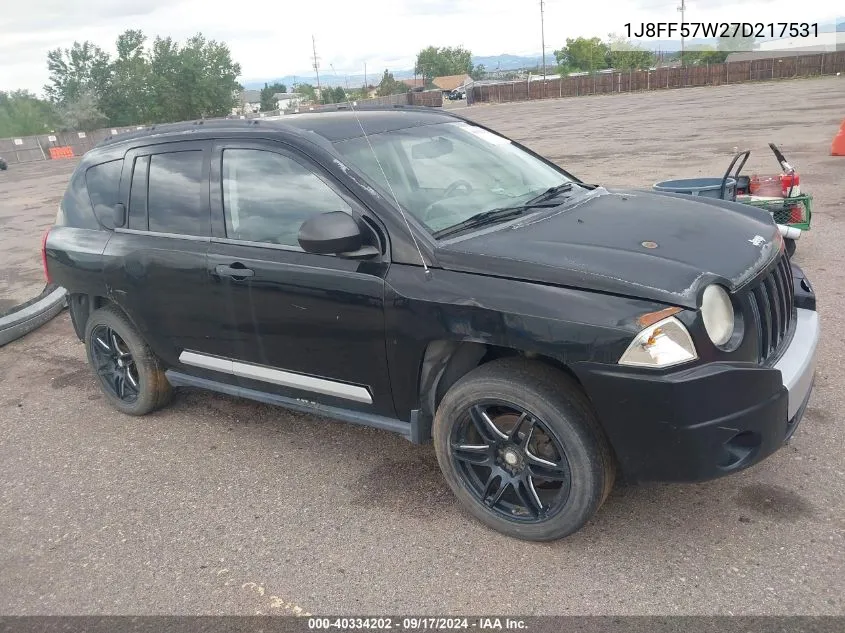
[[[112,298],[168,365],[177,365],[185,349],[231,353],[222,298],[211,292],[206,266],[210,148],[194,141],[127,153],[121,178],[127,222],[104,254]]]

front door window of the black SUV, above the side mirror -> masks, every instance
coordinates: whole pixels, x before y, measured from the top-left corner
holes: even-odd
[[[299,227],[318,213],[352,208],[295,160],[256,149],[223,150],[226,236],[299,247]]]

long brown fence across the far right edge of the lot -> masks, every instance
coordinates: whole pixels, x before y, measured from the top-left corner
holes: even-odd
[[[531,77],[517,81],[474,83],[467,88],[467,104],[719,86],[747,81],[835,75],[843,71],[845,51],[655,70],[598,72],[545,80]]]

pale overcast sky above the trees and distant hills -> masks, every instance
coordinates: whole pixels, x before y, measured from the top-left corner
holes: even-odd
[[[681,0],[544,0],[546,55],[567,37],[606,38],[625,23],[678,22]],[[688,22],[830,22],[842,0],[687,0]],[[91,40],[114,52],[119,33],[225,41],[241,81],[311,74],[311,36],[321,74],[368,75],[413,67],[426,46],[475,55],[541,51],[540,0],[0,0],[0,90],[36,94],[47,51]]]

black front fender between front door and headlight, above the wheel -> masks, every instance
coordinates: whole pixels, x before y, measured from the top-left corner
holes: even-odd
[[[476,343],[539,354],[564,365],[615,363],[665,304],[500,277],[391,266],[386,278],[386,351],[394,404],[408,419],[420,402],[430,344]],[[436,356],[439,362],[449,349]],[[431,362],[431,358],[429,358]]]

